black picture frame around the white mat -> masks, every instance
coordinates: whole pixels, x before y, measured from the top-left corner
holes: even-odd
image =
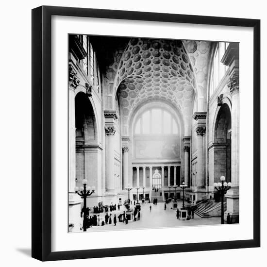
[[[253,28],[253,239],[51,252],[51,16]],[[260,20],[40,6],[32,10],[32,257],[41,261],[260,247]]]

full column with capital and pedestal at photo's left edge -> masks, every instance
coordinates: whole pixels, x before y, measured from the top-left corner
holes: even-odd
[[[79,232],[81,225],[81,202],[82,199],[75,193],[76,185],[76,128],[75,128],[75,89],[80,80],[74,67],[69,65],[69,87],[68,87],[68,205],[69,220],[72,225],[71,232]]]

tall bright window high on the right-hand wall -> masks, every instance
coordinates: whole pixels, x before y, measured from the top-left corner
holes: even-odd
[[[212,71],[212,78],[211,78],[211,95],[216,90],[218,84],[220,83],[221,79],[223,78],[227,66],[221,63],[221,59],[228,48],[229,43],[225,42],[219,42],[217,50],[215,52],[214,58],[213,58],[213,71]]]

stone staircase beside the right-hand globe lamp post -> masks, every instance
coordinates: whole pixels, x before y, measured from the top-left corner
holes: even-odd
[[[226,202],[224,202],[226,210]],[[196,206],[195,214],[200,217],[220,216],[221,202],[215,202],[213,199],[203,200]]]

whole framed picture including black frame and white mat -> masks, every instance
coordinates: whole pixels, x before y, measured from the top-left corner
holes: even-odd
[[[260,246],[260,20],[41,6],[32,59],[33,258]]]

